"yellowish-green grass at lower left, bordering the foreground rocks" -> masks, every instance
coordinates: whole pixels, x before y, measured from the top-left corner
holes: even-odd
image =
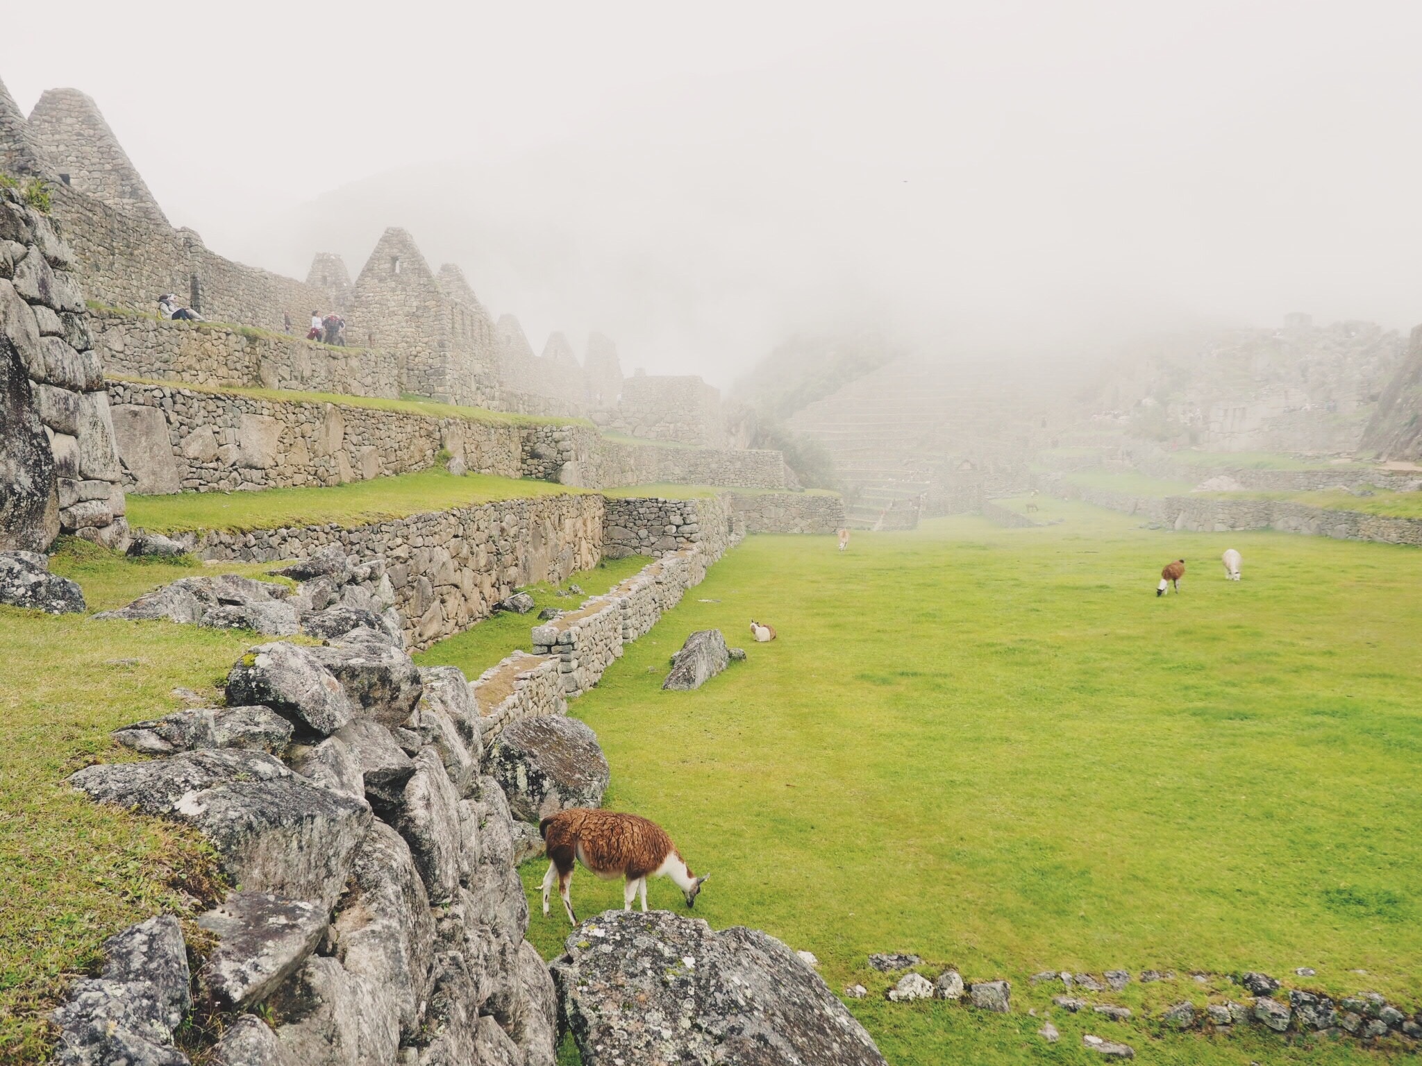
[[[68,540],[51,569],[81,584],[90,610],[107,610],[188,574],[266,567],[127,560]],[[46,1015],[107,937],[213,898],[216,866],[196,833],[91,803],[64,777],[127,758],[109,731],[183,706],[175,685],[216,698],[213,685],[262,640],[0,607],[0,1062],[47,1060]]]

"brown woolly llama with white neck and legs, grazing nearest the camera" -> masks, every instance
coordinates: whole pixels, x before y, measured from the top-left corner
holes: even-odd
[[[573,864],[582,863],[604,880],[626,877],[623,910],[631,910],[631,900],[641,894],[641,910],[647,912],[647,878],[670,877],[687,900],[687,908],[697,905],[701,885],[711,874],[697,877],[677,853],[671,837],[656,822],[638,814],[616,810],[569,807],[550,814],[538,824],[547,846],[547,873],[543,874],[543,915],[547,915],[549,893],[557,881],[567,920],[577,925],[573,914]]]

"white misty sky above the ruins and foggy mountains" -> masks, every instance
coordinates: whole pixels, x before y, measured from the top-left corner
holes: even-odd
[[[92,95],[215,250],[356,271],[401,225],[535,348],[727,385],[866,321],[1422,321],[1415,3],[208,7],[33,7],[0,77]]]

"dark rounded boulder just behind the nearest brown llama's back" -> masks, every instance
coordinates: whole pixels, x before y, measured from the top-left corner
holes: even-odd
[[[611,779],[597,733],[563,715],[505,726],[489,755],[489,772],[509,797],[513,817],[523,822],[567,807],[600,807]]]

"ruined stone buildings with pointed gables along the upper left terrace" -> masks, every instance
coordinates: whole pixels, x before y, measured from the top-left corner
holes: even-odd
[[[620,409],[621,368],[609,338],[589,337],[586,367],[562,333],[535,355],[516,318],[503,316],[495,327],[464,273],[452,264],[431,270],[402,229],[385,230],[354,283],[331,253],[313,259],[306,281],[215,254],[198,233],[168,222],[98,105],[77,90],[46,91],[26,119],[0,84],[0,172],[50,183],[53,217],[85,296],[118,311],[151,316],[158,297],[172,293],[212,323],[297,337],[313,310],[334,311],[346,318],[347,344],[377,350],[361,358],[371,372],[340,391],[594,416],[636,436],[722,446],[715,389],[691,378],[644,378]],[[215,348],[223,365],[208,368],[205,381],[330,391],[327,371],[337,360],[328,351],[250,331],[159,337],[166,330],[165,323],[128,328],[108,314],[104,341],[122,348],[107,355],[128,375],[192,379],[191,368],[175,377],[176,368]],[[282,360],[292,365],[277,365]]]

